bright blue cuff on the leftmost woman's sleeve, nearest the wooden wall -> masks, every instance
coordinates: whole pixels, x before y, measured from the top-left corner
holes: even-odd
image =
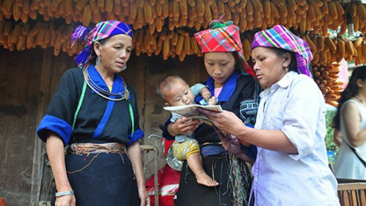
[[[45,115],[37,129],[37,135],[43,142],[46,142],[49,130],[60,135],[63,144],[66,145],[69,143],[72,127],[66,121],[55,116]]]

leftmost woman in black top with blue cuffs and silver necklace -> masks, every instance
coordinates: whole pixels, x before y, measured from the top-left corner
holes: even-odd
[[[118,75],[131,56],[132,28],[102,21],[78,26],[72,39],[85,41],[79,68],[62,76],[37,129],[55,177],[52,204],[149,206],[136,94]]]

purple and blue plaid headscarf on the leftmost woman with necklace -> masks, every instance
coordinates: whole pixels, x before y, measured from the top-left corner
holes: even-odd
[[[81,50],[78,56],[74,59],[77,66],[83,68],[88,65],[91,59],[94,42],[107,39],[117,34],[128,35],[133,40],[131,26],[121,21],[101,21],[95,25],[94,29],[81,25],[76,27],[74,33],[71,35],[71,46],[73,46],[75,41],[78,39],[86,41],[84,49]]]

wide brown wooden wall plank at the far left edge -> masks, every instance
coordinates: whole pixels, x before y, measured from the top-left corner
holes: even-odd
[[[41,49],[0,49],[0,194],[9,206],[29,204]]]

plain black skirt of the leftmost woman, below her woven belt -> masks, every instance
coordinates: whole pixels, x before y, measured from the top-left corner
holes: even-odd
[[[140,206],[136,177],[126,154],[67,154],[65,160],[76,206]]]

